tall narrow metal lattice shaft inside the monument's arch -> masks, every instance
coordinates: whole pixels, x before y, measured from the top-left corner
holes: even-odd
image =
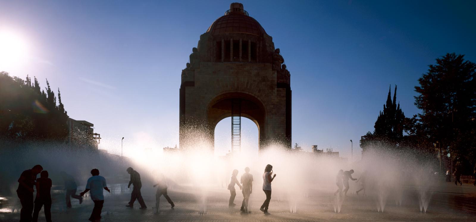
[[[241,100],[231,100],[231,153],[241,152]]]

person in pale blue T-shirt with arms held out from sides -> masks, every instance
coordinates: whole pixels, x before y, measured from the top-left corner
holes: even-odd
[[[94,208],[92,209],[89,221],[99,222],[101,220],[102,205],[104,204],[104,194],[102,193],[102,189],[107,190],[109,193],[111,193],[111,191],[106,185],[106,179],[99,176],[98,169],[92,169],[91,175],[92,176],[88,179],[88,183],[86,183],[86,190],[79,193],[79,195],[84,196],[85,193],[90,191],[89,194],[91,200],[94,202]]]

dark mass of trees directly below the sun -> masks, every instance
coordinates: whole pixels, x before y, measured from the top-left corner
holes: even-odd
[[[67,112],[46,80],[46,92],[34,77],[23,80],[0,72],[0,139],[64,141],[68,135]]]

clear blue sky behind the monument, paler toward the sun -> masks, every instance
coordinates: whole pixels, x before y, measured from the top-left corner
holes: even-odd
[[[178,144],[178,89],[191,49],[231,2],[0,0],[0,32],[28,45],[1,70],[60,87],[71,118],[124,153]],[[475,1],[241,1],[281,49],[291,73],[293,144],[360,158],[389,85],[406,116],[417,79],[447,52],[476,62]],[[227,119],[224,121],[228,121]],[[228,145],[228,123],[218,137]],[[254,144],[255,125],[244,131]],[[256,142],[257,143],[257,142]],[[226,152],[221,148],[220,152]],[[349,158],[350,159],[350,158]]]

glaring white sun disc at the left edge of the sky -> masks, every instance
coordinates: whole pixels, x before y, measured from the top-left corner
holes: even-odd
[[[27,41],[18,33],[0,29],[0,71],[18,68],[27,57]]]

